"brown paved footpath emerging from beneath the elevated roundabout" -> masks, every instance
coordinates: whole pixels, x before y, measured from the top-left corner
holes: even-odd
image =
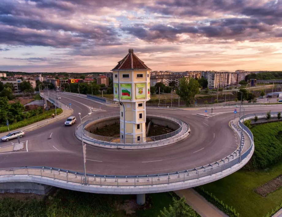
[[[186,203],[202,217],[228,217],[223,211],[208,202],[193,188],[174,191],[178,196],[185,196]]]

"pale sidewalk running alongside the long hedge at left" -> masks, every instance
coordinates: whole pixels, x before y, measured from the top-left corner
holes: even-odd
[[[38,121],[36,123],[27,125],[25,127],[14,129],[12,131],[18,131],[18,130],[21,130],[21,131],[24,131],[24,132],[32,131],[32,130],[35,130],[37,128],[43,127],[47,124],[51,124],[51,123],[53,123],[57,120],[61,120],[63,118],[66,118],[73,113],[73,110],[67,108],[65,105],[61,104],[61,107],[63,109],[63,112],[61,114],[59,114],[58,116],[56,116],[55,118],[48,118],[48,119],[45,119],[45,120],[41,120],[41,121]],[[0,137],[5,136],[7,134],[8,134],[8,132],[0,133]]]

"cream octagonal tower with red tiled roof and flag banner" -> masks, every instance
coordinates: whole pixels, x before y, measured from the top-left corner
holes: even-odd
[[[146,141],[146,101],[150,100],[150,71],[133,49],[128,49],[128,54],[112,69],[114,101],[120,104],[121,142]]]

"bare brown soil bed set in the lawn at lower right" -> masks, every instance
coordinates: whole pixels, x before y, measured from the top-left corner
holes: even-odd
[[[254,191],[257,194],[263,197],[266,197],[269,193],[275,192],[281,186],[282,186],[282,174],[266,182],[265,184],[261,185],[260,187],[256,188]]]

